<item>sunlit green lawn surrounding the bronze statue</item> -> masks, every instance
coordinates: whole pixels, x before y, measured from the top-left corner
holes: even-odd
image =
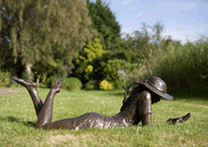
[[[44,98],[49,89],[38,90]],[[121,107],[122,93],[62,90],[55,98],[53,120],[86,112],[115,115]],[[45,131],[34,128],[37,118],[27,91],[23,88],[9,90],[0,95],[0,146],[207,147],[208,100],[200,97],[183,98],[154,104],[153,125],[150,127],[139,124],[126,128]],[[187,112],[191,113],[191,118],[184,124],[171,125],[165,122],[170,117]]]

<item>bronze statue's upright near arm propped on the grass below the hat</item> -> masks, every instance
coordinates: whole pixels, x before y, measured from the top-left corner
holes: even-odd
[[[141,97],[139,100],[139,115],[141,116],[142,125],[151,125],[152,124],[152,100],[151,95]]]

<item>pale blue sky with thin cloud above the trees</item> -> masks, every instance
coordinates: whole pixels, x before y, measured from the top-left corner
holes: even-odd
[[[91,0],[95,2],[96,0]],[[103,0],[121,25],[121,33],[140,30],[142,23],[164,25],[163,36],[182,43],[208,37],[208,0]]]

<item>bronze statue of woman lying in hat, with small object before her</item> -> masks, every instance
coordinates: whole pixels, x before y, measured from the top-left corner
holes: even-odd
[[[11,77],[12,80],[23,85],[29,92],[38,117],[36,127],[43,129],[82,129],[82,128],[112,128],[126,127],[137,125],[142,122],[142,125],[151,125],[151,105],[160,101],[160,98],[172,100],[173,97],[166,93],[166,83],[159,77],[152,76],[145,81],[134,81],[126,89],[123,106],[120,112],[115,116],[103,116],[92,112],[86,113],[79,117],[63,119],[55,122],[52,120],[53,100],[56,93],[60,92],[62,85],[61,78],[57,79],[54,86],[50,89],[45,102],[43,103],[37,92],[37,84],[26,82],[17,77]],[[126,98],[131,86],[138,84],[134,88],[131,95]],[[168,122],[183,123],[190,117],[190,113],[178,117],[170,118]]]

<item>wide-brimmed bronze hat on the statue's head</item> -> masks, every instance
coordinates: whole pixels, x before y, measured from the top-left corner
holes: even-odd
[[[152,76],[148,80],[138,81],[138,84],[142,84],[147,87],[152,92],[161,96],[165,100],[173,100],[173,97],[167,94],[167,85],[166,83],[157,76]]]

